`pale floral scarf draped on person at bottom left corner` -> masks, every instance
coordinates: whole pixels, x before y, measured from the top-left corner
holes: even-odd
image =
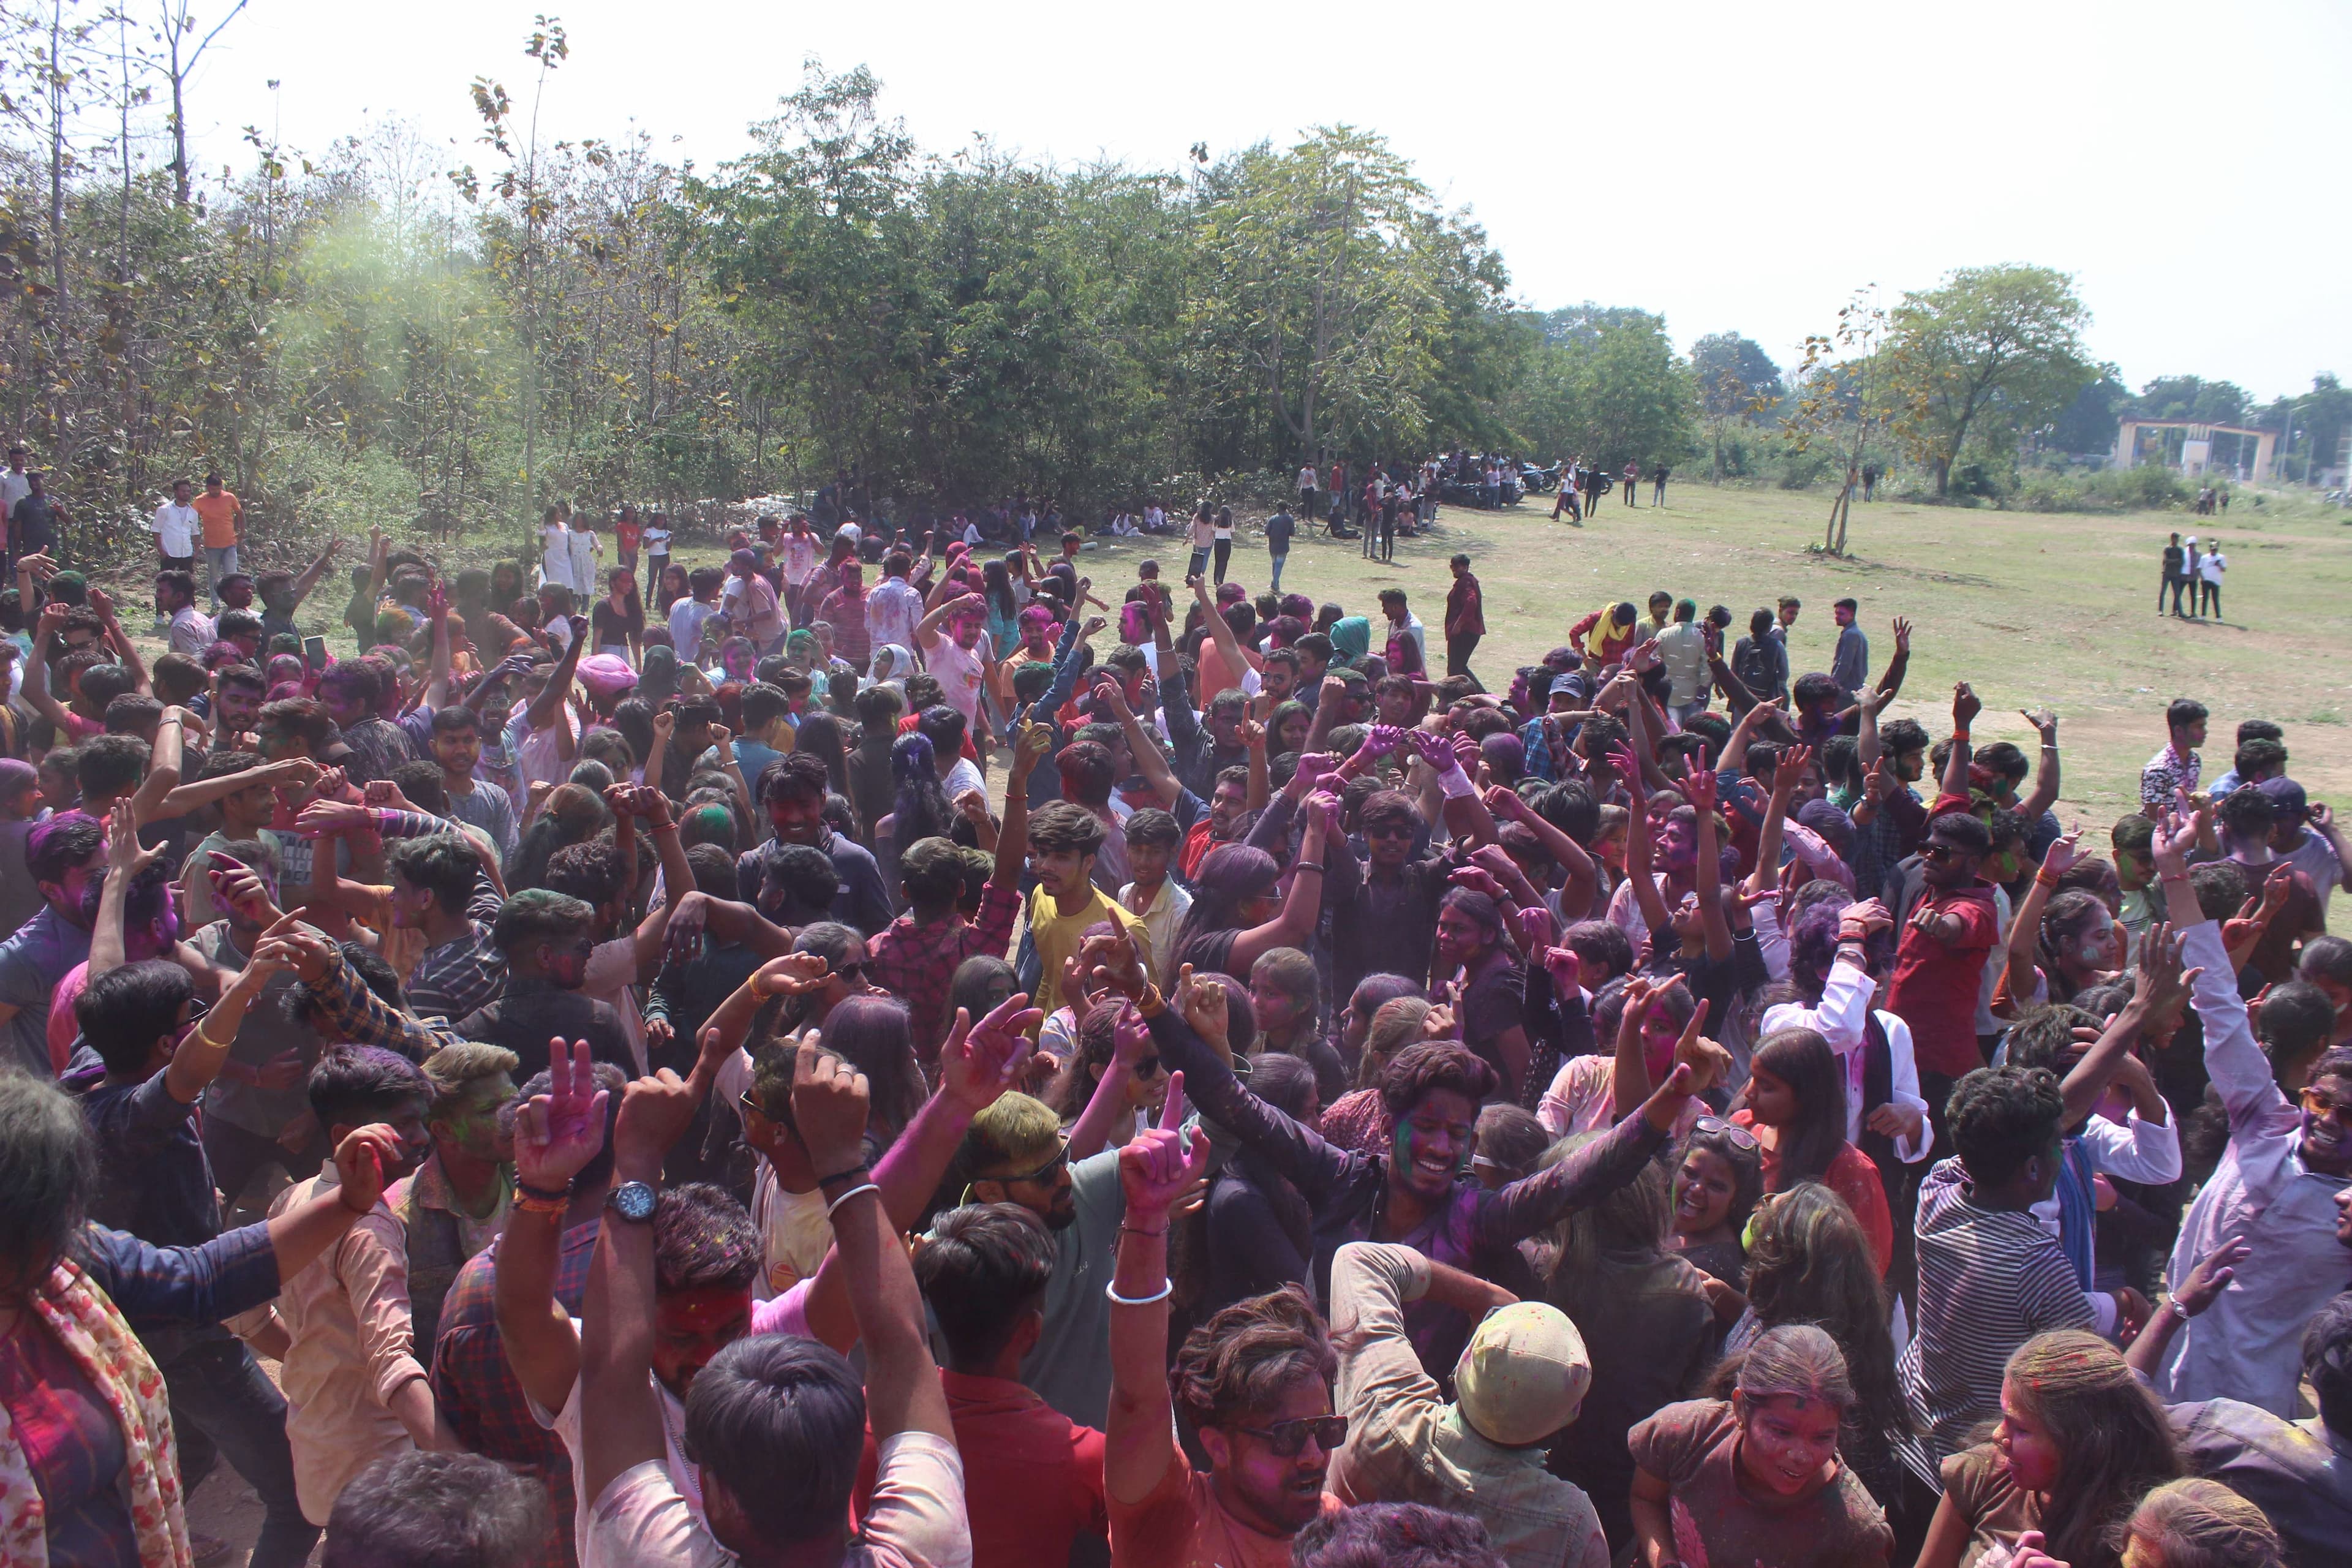
[[[172,1458],[172,1403],[122,1312],[80,1265],[59,1260],[26,1307],[56,1335],[122,1427],[122,1486],[143,1568],[193,1568]],[[49,1526],[40,1486],[14,1427],[0,1413],[0,1563],[49,1568]]]

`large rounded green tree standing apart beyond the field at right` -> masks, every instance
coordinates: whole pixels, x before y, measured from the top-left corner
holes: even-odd
[[[1964,444],[2006,456],[2098,378],[2082,346],[2091,313],[2074,280],[2037,266],[1959,268],[1891,315],[1886,395],[1912,456],[1952,489]]]

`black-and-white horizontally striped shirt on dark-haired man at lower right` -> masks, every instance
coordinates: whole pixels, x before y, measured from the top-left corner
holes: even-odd
[[[2018,1208],[1978,1208],[1957,1159],[1919,1185],[1919,1331],[1896,1375],[1912,1432],[1896,1453],[1940,1488],[1938,1467],[2002,1413],[2002,1373],[2025,1340],[2093,1328],[2091,1302],[2058,1239]]]

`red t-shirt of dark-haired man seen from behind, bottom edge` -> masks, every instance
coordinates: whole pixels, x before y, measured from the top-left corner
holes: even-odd
[[[964,1455],[964,1512],[971,1519],[971,1568],[1061,1563],[1080,1533],[1105,1535],[1103,1434],[1004,1378],[941,1368],[955,1448]],[[856,1519],[875,1490],[875,1441],[866,1436]]]

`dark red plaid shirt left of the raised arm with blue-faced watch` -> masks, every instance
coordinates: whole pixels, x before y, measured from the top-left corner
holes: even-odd
[[[534,1220],[534,1225],[541,1220]],[[572,1316],[588,1295],[588,1260],[602,1220],[574,1225],[562,1237],[555,1260],[555,1300]],[[496,1258],[492,1244],[456,1272],[456,1284],[442,1298],[440,1338],[433,1342],[433,1403],[449,1418],[452,1432],[473,1453],[487,1453],[548,1488],[548,1540],[529,1559],[534,1568],[576,1568],[579,1554],[572,1523],[579,1497],[572,1490],[572,1458],[564,1441],[541,1427],[532,1401],[506,1363],[499,1340]]]

